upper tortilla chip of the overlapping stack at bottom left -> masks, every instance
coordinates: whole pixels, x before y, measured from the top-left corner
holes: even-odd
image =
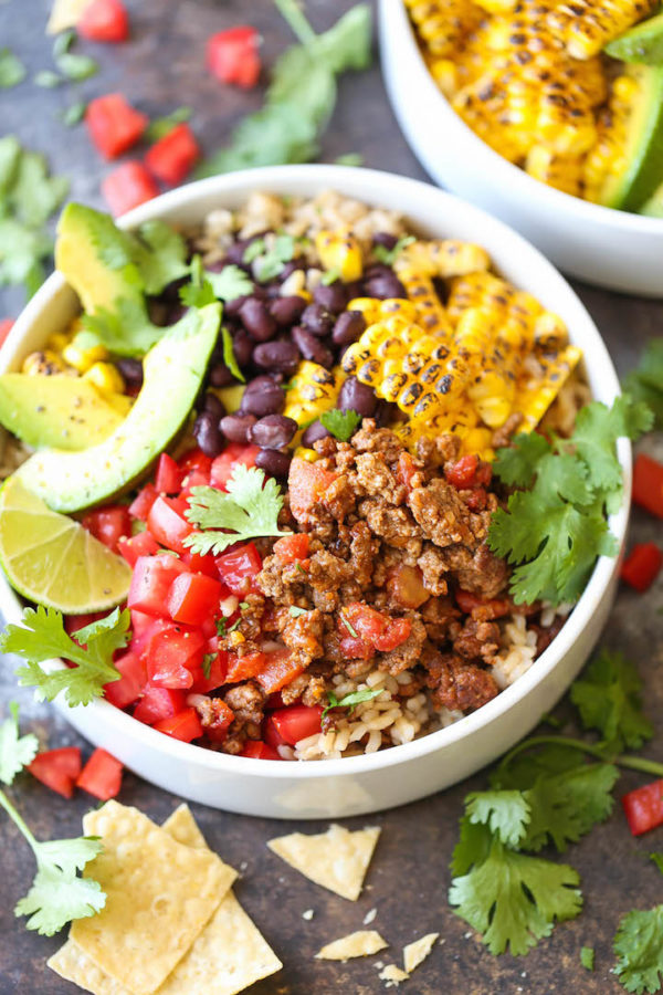
[[[104,850],[85,868],[106,905],[70,936],[134,995],[151,995],[188,952],[236,877],[209,850],[176,842],[136,808],[107,802],[83,819]]]

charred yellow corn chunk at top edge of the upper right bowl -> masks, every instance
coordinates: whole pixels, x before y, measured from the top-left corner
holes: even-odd
[[[659,0],[573,0],[548,14],[569,55],[590,59],[659,7]]]

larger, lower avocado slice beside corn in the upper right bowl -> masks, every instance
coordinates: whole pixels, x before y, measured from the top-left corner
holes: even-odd
[[[623,148],[625,168],[610,174],[598,202],[622,211],[636,211],[661,182],[663,168],[663,66],[633,65],[639,94],[628,123]]]

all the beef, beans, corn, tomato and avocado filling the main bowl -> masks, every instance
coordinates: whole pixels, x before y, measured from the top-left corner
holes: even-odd
[[[0,377],[0,555],[42,606],[3,647],[45,696],[376,752],[495,698],[615,552],[642,412],[582,407],[564,323],[480,247],[256,193],[186,233],[72,205],[56,261],[84,313]]]

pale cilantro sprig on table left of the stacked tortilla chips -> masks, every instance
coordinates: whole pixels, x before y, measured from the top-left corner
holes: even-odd
[[[11,785],[15,775],[34,758],[39,745],[36,736],[19,735],[18,706],[12,703],[10,711],[11,716],[0,725],[0,781],[6,785]],[[36,874],[28,894],[17,903],[14,915],[29,915],[25,923],[29,930],[52,936],[73,919],[99,912],[106,903],[101,886],[76,873],[102,851],[98,838],[83,836],[40,842],[3,790],[0,790],[0,808],[25,838],[36,860]]]

